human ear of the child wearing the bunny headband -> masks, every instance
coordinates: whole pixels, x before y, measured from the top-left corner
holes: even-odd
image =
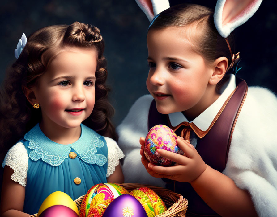
[[[209,83],[214,85],[217,84],[225,75],[228,68],[228,59],[226,57],[219,57],[214,63],[214,73],[209,80]]]

